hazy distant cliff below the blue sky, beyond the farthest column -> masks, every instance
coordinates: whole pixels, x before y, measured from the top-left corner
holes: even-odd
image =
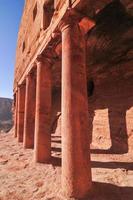
[[[12,99],[0,98],[0,131],[12,127]]]

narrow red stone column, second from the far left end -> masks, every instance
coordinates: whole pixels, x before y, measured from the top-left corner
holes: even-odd
[[[25,108],[25,84],[18,87],[18,125],[17,125],[17,138],[18,142],[23,142],[24,131],[24,108]]]

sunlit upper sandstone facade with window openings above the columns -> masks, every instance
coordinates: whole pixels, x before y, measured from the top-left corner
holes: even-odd
[[[112,0],[26,0],[18,33],[14,90],[36,55],[49,44],[69,8],[93,18]],[[131,0],[121,0],[130,7]]]

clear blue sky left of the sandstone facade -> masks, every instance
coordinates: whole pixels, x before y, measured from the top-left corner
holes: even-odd
[[[12,98],[16,43],[24,0],[0,0],[0,97]]]

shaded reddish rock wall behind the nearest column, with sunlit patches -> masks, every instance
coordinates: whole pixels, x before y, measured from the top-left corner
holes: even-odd
[[[133,18],[123,5],[113,3],[96,21],[87,40],[87,79],[93,82],[89,135],[92,148],[126,153],[133,144]],[[60,118],[56,124],[60,127]]]

